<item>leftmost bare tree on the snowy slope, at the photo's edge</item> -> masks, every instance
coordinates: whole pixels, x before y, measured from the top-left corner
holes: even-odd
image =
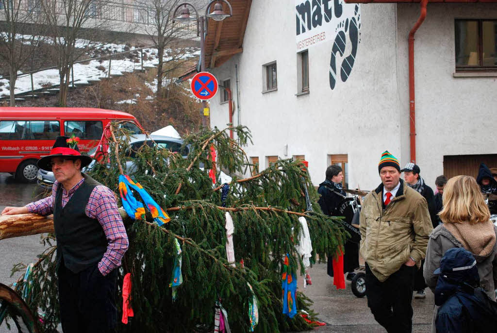
[[[40,45],[40,0],[0,0],[0,59],[8,67],[10,106],[17,73]]]

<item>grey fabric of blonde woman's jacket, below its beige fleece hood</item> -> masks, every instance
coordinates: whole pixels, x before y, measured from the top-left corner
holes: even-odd
[[[494,227],[497,235],[497,228]],[[424,261],[423,276],[431,291],[434,292],[437,276],[433,271],[440,267],[440,260],[445,252],[452,248],[463,248],[462,244],[442,225],[433,229],[426,248],[426,258]],[[475,256],[478,274],[480,274],[480,285],[485,290],[490,299],[495,300],[495,286],[497,285],[497,242],[494,250],[487,256],[473,253]]]

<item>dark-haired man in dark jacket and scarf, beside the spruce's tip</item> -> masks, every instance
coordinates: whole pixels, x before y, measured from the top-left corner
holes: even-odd
[[[318,193],[319,205],[324,214],[330,216],[341,216],[338,208],[346,197],[342,188],[343,171],[342,168],[332,165],[326,169],[326,180],[319,184]],[[351,221],[345,221],[351,222]],[[348,240],[344,245],[343,272],[348,272],[347,280],[352,280],[354,270],[359,267],[359,245]],[[328,275],[333,277],[332,258],[328,259]]]

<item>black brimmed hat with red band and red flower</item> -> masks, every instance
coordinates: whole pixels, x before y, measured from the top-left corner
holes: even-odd
[[[86,155],[81,155],[80,150],[78,149],[78,141],[77,137],[67,137],[67,136],[58,136],[55,139],[54,146],[50,151],[50,155],[44,156],[38,160],[38,167],[40,169],[46,171],[52,171],[52,166],[50,162],[52,162],[52,158],[61,157],[65,159],[71,160],[81,160],[81,167],[86,167],[91,163],[91,157]]]

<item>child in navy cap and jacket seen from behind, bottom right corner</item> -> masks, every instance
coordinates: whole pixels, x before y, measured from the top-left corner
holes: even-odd
[[[497,326],[497,303],[479,287],[476,260],[464,248],[449,249],[440,260],[435,287],[437,333],[494,332]]]

